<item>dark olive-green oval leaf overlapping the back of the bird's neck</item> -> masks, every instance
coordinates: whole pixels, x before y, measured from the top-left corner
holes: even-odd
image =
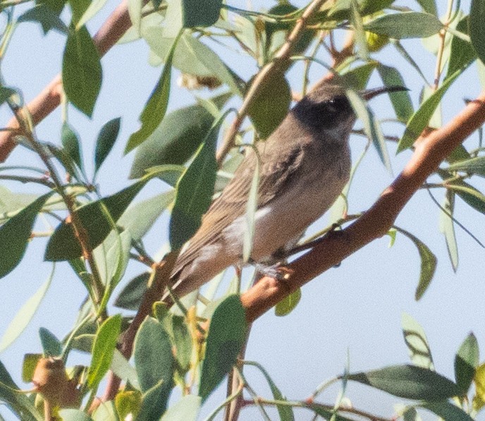
[[[285,74],[276,72],[259,86],[247,109],[259,136],[266,139],[281,124],[291,104],[291,90]]]

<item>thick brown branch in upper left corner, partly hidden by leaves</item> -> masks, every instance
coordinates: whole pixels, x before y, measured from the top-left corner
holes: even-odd
[[[94,35],[93,42],[100,56],[104,56],[106,51],[113,47],[118,42],[118,39],[130,28],[131,20],[128,15],[127,5],[127,0],[121,1],[121,4],[116,7],[102,27],[99,28],[96,35]],[[61,75],[57,75],[37,97],[27,104],[27,109],[35,125],[40,123],[61,104],[61,96],[62,78]],[[7,128],[14,130],[0,132],[0,162],[4,162],[13,148],[16,147],[15,138],[16,135],[20,134],[17,130],[19,128],[18,121],[16,121],[15,117],[8,121]]]

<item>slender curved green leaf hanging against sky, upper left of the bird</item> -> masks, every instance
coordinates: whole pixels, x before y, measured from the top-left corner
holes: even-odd
[[[145,109],[143,109],[142,114],[140,115],[142,127],[128,139],[125,154],[128,154],[130,150],[135,149],[135,147],[147,140],[148,136],[154,132],[165,116],[168,106],[168,96],[170,95],[173,51],[175,51],[177,41],[178,38],[173,40],[173,44],[171,45],[165,60],[164,71],[161,72],[160,79],[158,83],[156,83],[156,86],[145,105]]]

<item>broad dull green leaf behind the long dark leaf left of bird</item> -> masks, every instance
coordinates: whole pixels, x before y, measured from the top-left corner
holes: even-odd
[[[228,95],[214,98],[226,102]],[[223,104],[221,104],[222,106]],[[139,178],[152,166],[185,164],[211,132],[214,116],[201,104],[187,106],[167,114],[152,135],[137,148],[130,178]]]

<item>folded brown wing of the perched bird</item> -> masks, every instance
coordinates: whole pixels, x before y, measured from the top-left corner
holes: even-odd
[[[278,162],[264,161],[264,152],[260,154],[259,194],[257,207],[262,208],[274,197],[281,194],[286,185],[295,176],[302,160],[302,151],[282,152]],[[188,248],[180,255],[173,274],[176,275],[186,264],[192,262],[204,245],[216,240],[219,233],[235,219],[246,212],[247,196],[250,193],[252,176],[256,168],[256,154],[250,152],[234,173],[231,182],[226,185],[221,195],[212,202],[211,207],[202,218],[202,225],[190,240]]]

